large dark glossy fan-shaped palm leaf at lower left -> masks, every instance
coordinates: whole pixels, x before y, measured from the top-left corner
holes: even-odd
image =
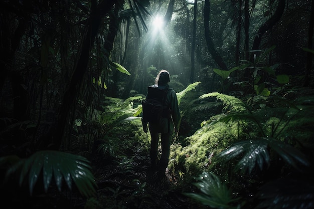
[[[52,181],[52,176],[54,176],[59,191],[61,191],[62,180],[64,179],[69,189],[72,188],[73,181],[81,194],[92,196],[95,193],[96,183],[91,172],[90,162],[83,156],[45,150],[38,151],[27,159],[20,159],[17,156],[5,156],[0,158],[0,165],[8,163],[11,159],[14,159],[14,163],[7,170],[7,177],[20,171],[19,182],[21,185],[28,176],[31,194],[41,171],[43,172],[43,183],[46,192]]]

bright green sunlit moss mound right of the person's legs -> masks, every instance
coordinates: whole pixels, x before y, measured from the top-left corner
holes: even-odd
[[[185,170],[190,175],[196,175],[211,163],[212,153],[219,153],[237,140],[237,123],[207,124],[192,136],[187,137],[188,145],[177,144],[171,147],[173,159],[172,169]],[[241,131],[243,135],[243,131]]]

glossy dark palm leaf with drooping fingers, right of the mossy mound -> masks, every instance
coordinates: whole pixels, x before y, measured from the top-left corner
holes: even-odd
[[[285,160],[286,163],[296,169],[299,169],[300,164],[304,166],[310,165],[305,155],[296,148],[267,137],[258,137],[252,140],[235,143],[230,148],[219,153],[218,156],[228,161],[244,153],[237,163],[236,168],[251,173],[256,166],[262,170],[265,165],[269,164],[270,156],[267,151],[268,146]]]

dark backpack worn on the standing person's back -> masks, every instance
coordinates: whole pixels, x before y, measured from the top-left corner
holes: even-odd
[[[159,123],[161,117],[170,118],[170,109],[165,105],[169,88],[149,86],[147,91],[146,99],[142,102],[143,121]]]

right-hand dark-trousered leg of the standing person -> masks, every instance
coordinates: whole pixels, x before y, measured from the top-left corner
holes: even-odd
[[[167,168],[168,162],[169,162],[171,139],[172,139],[171,133],[162,133],[161,134],[162,156],[161,156],[161,160],[160,160],[159,173],[163,176],[165,175],[166,168]]]

